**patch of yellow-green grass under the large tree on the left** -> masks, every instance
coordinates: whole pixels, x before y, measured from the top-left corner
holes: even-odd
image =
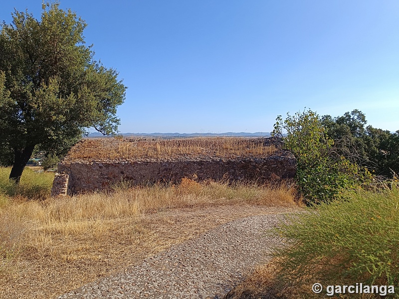
[[[54,173],[35,172],[28,167],[23,170],[19,184],[9,180],[10,167],[0,167],[0,207],[9,197],[25,197],[27,199],[45,199],[50,195]]]

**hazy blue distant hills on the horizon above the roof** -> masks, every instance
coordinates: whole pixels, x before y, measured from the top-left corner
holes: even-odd
[[[268,132],[226,132],[226,133],[122,133],[123,136],[160,136],[160,137],[211,137],[211,136],[234,136],[234,137],[270,137]],[[104,137],[101,133],[90,133],[89,137]]]

